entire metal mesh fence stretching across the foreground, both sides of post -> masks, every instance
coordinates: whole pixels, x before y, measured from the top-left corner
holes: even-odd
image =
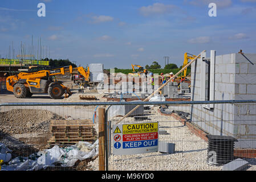
[[[255,107],[253,101],[1,104],[2,170],[255,170]],[[123,133],[132,129],[141,131]],[[146,152],[134,154],[141,144]]]

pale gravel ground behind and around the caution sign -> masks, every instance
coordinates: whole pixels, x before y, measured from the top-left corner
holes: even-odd
[[[109,170],[117,171],[170,171],[170,170],[221,170],[222,166],[210,166],[206,163],[208,143],[189,131],[181,122],[171,117],[157,113],[158,107],[152,111],[149,120],[144,122],[159,121],[159,130],[167,134],[160,134],[159,141],[175,143],[174,154],[152,152],[137,155],[111,155]],[[123,123],[134,122],[132,117]],[[115,121],[113,122],[115,123]],[[94,170],[98,170],[98,159],[90,163]]]

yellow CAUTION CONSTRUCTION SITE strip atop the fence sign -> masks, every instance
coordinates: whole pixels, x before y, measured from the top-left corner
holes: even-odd
[[[157,123],[123,125],[123,134],[150,133],[157,132],[157,130]]]

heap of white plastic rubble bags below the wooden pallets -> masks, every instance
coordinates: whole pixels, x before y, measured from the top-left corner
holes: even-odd
[[[61,164],[63,167],[74,166],[76,161],[93,158],[99,154],[99,140],[94,144],[79,142],[73,146],[50,149],[31,154],[29,157],[17,157],[10,160],[9,165],[2,165],[2,171],[37,171],[42,168],[54,167]]]

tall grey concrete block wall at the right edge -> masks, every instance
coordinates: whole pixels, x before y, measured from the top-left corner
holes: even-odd
[[[256,54],[239,53],[216,56],[214,100],[256,100]],[[201,64],[191,66],[192,100],[201,98]],[[207,69],[206,69],[207,73]],[[250,107],[250,108],[249,108]],[[215,104],[191,107],[194,124],[212,135],[230,135],[238,139],[236,148],[256,147],[256,106],[253,104]],[[254,141],[255,140],[255,141]]]

